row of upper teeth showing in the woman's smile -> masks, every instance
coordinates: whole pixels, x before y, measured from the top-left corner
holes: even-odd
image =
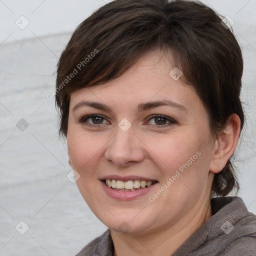
[[[125,188],[125,189],[132,189],[132,188],[139,188],[150,186],[153,181],[145,181],[145,180],[128,180],[128,181],[121,181],[121,180],[115,180],[115,179],[106,179],[105,183],[112,188]]]

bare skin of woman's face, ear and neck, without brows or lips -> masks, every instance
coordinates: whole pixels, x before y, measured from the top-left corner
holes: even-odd
[[[193,87],[169,75],[171,52],[168,57],[159,55],[152,50],[120,77],[79,89],[70,97],[69,163],[78,173],[76,183],[84,200],[111,230],[115,256],[170,255],[208,220],[213,175],[224,167],[239,137],[240,120],[233,114],[220,136],[211,139],[207,112]],[[164,99],[183,105],[186,111],[157,106],[137,112],[140,103]],[[104,103],[112,112],[90,106],[73,110],[82,100]],[[79,122],[88,114],[104,118]],[[164,124],[159,124],[152,114],[175,122],[160,119]],[[127,131],[118,127],[123,118],[131,124]],[[149,201],[197,151],[200,156],[158,198]],[[138,198],[114,199],[99,180],[109,174],[139,175],[158,183]],[[120,230],[123,221],[128,223],[125,233]]]

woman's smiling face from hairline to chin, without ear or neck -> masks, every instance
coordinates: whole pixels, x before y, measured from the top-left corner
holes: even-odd
[[[78,189],[116,231],[180,228],[209,204],[214,142],[206,110],[158,54],[70,98],[67,146]]]

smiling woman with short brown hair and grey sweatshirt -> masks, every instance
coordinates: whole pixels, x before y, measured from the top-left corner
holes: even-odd
[[[212,9],[114,0],[74,31],[56,104],[69,164],[109,229],[77,255],[255,255],[230,157],[244,123],[239,45]]]

